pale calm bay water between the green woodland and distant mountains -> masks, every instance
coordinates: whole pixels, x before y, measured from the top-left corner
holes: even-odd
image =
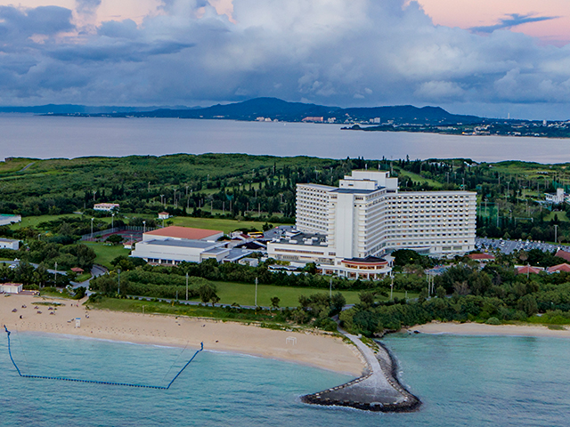
[[[340,125],[0,115],[0,158],[248,153],[272,156],[570,161],[570,140],[340,131]]]

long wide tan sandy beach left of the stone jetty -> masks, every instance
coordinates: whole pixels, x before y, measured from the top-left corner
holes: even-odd
[[[51,315],[53,310],[48,310],[48,306],[38,305],[35,309],[34,302],[65,305],[57,306],[55,314]],[[214,319],[85,310],[81,303],[29,295],[0,295],[0,326],[6,325],[11,331],[82,335],[195,349],[204,342],[204,350],[289,360],[354,376],[360,376],[365,368],[362,355],[353,345],[326,334],[278,331]],[[22,305],[27,308],[21,308]],[[12,312],[13,309],[17,312]],[[38,314],[38,310],[42,313]],[[75,318],[81,318],[78,328],[75,327]]]

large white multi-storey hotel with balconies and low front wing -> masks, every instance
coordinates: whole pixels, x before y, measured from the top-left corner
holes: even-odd
[[[388,172],[353,171],[338,188],[297,184],[296,227],[299,234],[268,244],[269,256],[376,278],[391,270],[378,257],[398,249],[434,256],[474,250],[476,193],[400,192]]]

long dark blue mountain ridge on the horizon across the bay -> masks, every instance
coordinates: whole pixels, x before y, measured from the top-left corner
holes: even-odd
[[[395,124],[455,124],[480,123],[484,119],[475,116],[459,116],[448,113],[439,107],[423,107],[421,109],[411,105],[395,107],[373,107],[342,109],[340,107],[326,107],[317,104],[302,102],[288,102],[277,98],[255,98],[253,100],[235,102],[232,104],[217,104],[205,109],[157,109],[154,111],[125,112],[113,114],[125,117],[178,117],[178,118],[209,118],[231,120],[271,119],[284,122],[322,121],[330,120],[334,123],[352,121],[370,121],[380,118],[382,123],[389,120]],[[315,120],[316,118],[316,120]]]

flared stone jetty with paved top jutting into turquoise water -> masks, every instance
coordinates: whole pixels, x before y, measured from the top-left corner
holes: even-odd
[[[375,344],[372,350],[357,336],[345,335],[362,353],[367,372],[349,383],[307,394],[301,397],[303,402],[376,412],[411,412],[421,405],[419,399],[398,382],[395,360],[383,345]]]

